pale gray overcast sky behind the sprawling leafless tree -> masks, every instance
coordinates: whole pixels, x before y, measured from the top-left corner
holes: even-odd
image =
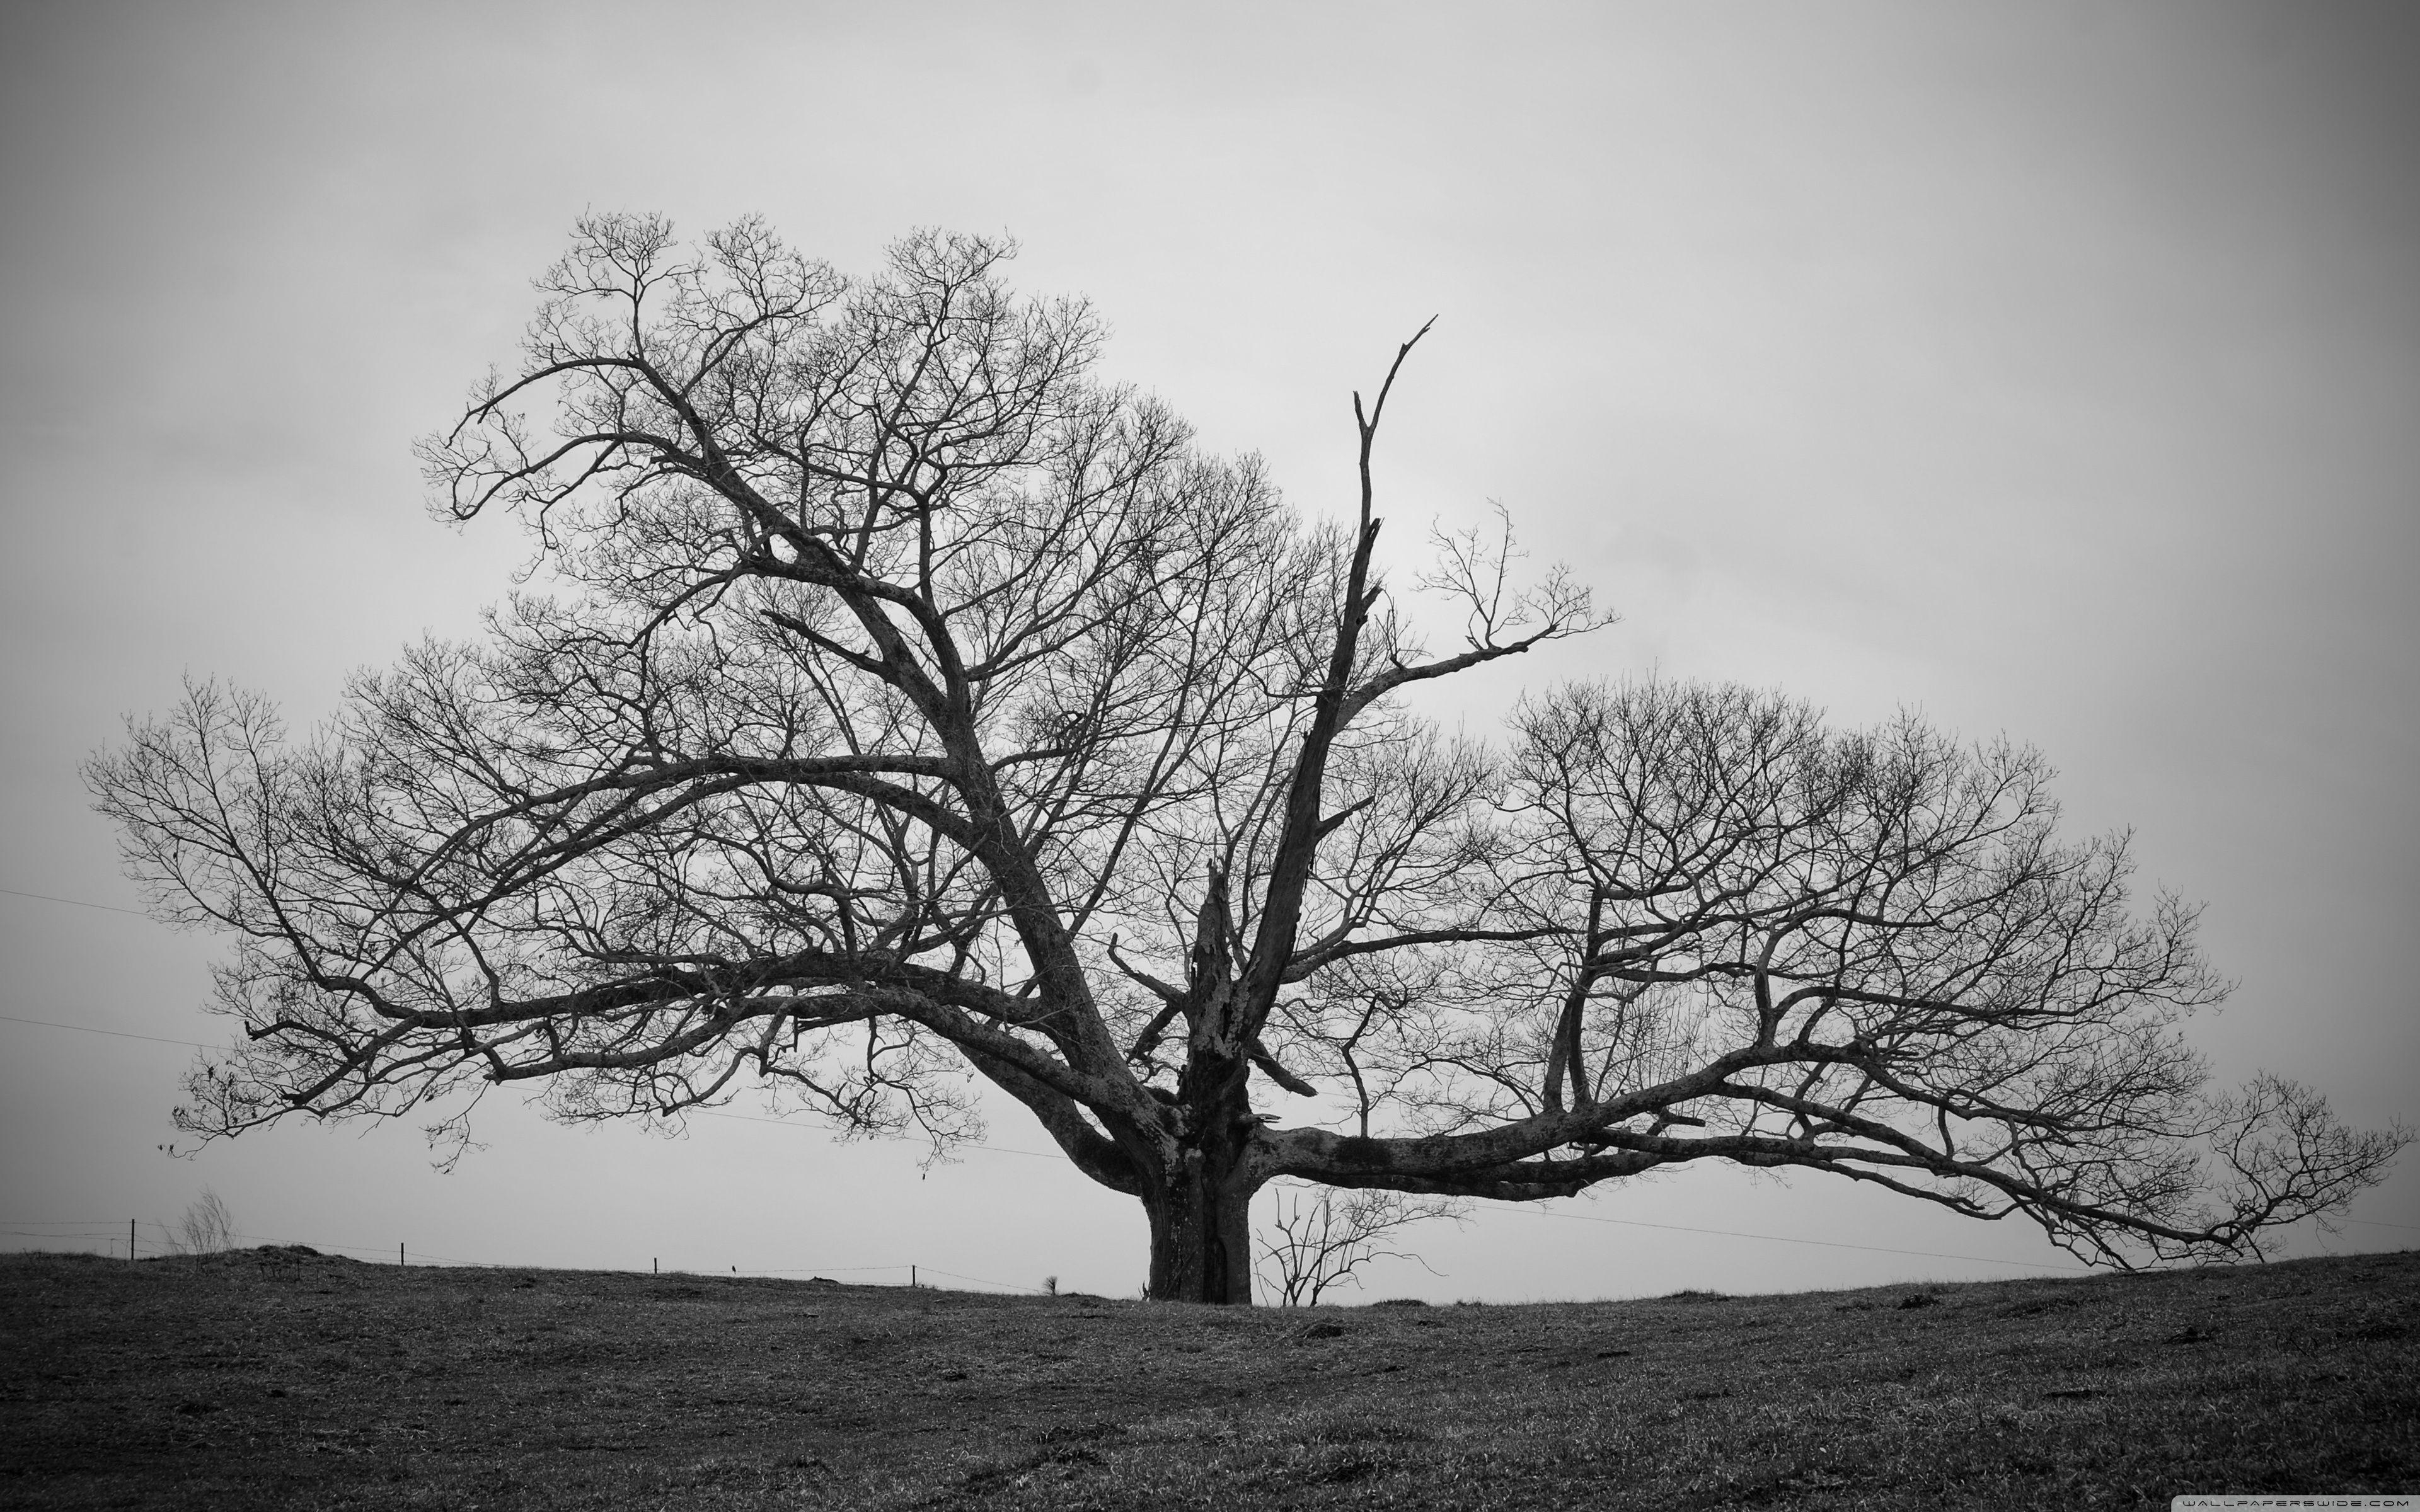
[[[0,888],[138,907],[75,764],[184,673],[305,723],[503,593],[518,539],[431,525],[409,440],[511,358],[581,210],[755,210],[842,269],[1007,230],[1113,375],[1307,510],[1348,503],[1350,389],[1440,314],[1389,539],[1498,498],[1624,614],[1522,680],[2033,740],[2074,830],[2207,900],[2222,1079],[2420,1123],[2410,7],[24,5],[0,70]],[[0,1014],[220,1040],[213,953],[0,895]],[[920,1178],[806,1125],[491,1101],[453,1176],[399,1125],[169,1161],[189,1055],[0,1021],[0,1246],[211,1183],[244,1231],[385,1253],[1142,1280],[1135,1205],[1050,1159]],[[992,1142],[1045,1149],[1014,1110]],[[2064,1260],[1817,1178],[1556,1207],[1626,1224],[1491,1212],[1372,1294]],[[2301,1248],[2408,1248],[2420,1161],[2355,1217]]]

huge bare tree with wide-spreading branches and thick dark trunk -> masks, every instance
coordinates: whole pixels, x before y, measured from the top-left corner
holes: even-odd
[[[1251,1297],[1273,1178],[1534,1200],[1699,1159],[2021,1212],[2096,1260],[2258,1248],[2401,1130],[2209,1093],[2219,997],[2047,769],[1738,689],[1566,687],[1500,745],[1421,685],[1602,622],[1508,537],[1377,566],[1089,377],[1072,302],[917,235],[862,283],[741,223],[600,215],[513,375],[424,443],[532,588],[288,740],[196,685],[94,757],[165,919],[235,939],[179,1123],[542,1084],[675,1118],[750,1081],[980,1130],[975,1077],[1142,1202],[1150,1294]],[[1307,1098],[1283,1123],[1278,1093]],[[460,1147],[455,1147],[460,1149]]]

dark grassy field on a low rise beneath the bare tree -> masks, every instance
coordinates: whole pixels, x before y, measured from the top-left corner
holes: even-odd
[[[2166,1507],[2420,1488],[2420,1253],[1208,1309],[0,1256],[0,1505]]]

